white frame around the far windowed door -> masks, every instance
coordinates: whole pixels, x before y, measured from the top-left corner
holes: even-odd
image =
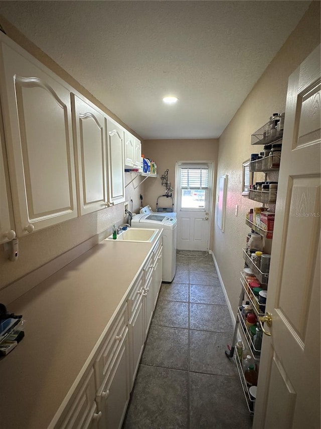
[[[207,243],[206,243],[206,251],[209,250],[209,244],[210,244],[210,237],[211,237],[211,229],[212,229],[212,204],[213,204],[213,186],[214,186],[214,162],[212,161],[205,161],[205,160],[187,160],[187,161],[177,161],[175,164],[175,207],[177,211],[177,217],[178,217],[178,249],[179,249],[179,231],[180,231],[180,209],[181,209],[181,187],[180,187],[180,168],[184,164],[206,164],[209,168],[209,178],[208,178],[208,209],[204,209],[204,218],[208,217],[208,233],[207,233]],[[201,211],[201,210],[200,210]],[[208,214],[206,214],[208,213]],[[198,249],[195,249],[198,250]]]

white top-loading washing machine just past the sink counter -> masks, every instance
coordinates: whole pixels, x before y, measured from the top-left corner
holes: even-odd
[[[163,282],[171,283],[176,273],[177,221],[165,213],[136,214],[132,228],[163,228]]]

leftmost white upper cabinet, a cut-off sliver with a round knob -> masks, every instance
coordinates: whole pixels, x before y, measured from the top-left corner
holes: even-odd
[[[14,222],[10,213],[11,199],[8,198],[8,196],[10,196],[10,191],[8,190],[6,181],[6,157],[3,155],[5,147],[4,141],[2,140],[2,129],[0,129],[0,243],[4,243],[16,237]]]

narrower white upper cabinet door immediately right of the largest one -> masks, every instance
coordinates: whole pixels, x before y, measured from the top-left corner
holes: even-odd
[[[104,114],[84,98],[71,95],[81,215],[106,207],[106,142]]]

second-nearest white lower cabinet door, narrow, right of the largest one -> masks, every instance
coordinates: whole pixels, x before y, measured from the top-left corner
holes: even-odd
[[[143,297],[142,297],[143,298]],[[129,323],[129,350],[130,350],[130,391],[135,381],[140,357],[145,341],[144,300],[140,299]]]

